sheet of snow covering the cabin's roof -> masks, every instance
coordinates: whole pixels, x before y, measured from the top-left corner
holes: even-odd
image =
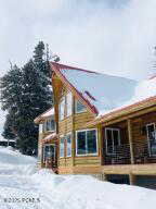
[[[99,115],[156,96],[156,77],[135,82],[81,70],[62,69],[61,72],[98,109]]]

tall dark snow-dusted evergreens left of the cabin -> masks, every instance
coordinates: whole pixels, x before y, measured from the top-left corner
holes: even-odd
[[[51,71],[42,41],[30,61],[22,69],[14,66],[1,78],[0,89],[2,109],[12,118],[6,126],[16,133],[17,147],[25,153],[37,149],[38,126],[34,119],[52,107]]]

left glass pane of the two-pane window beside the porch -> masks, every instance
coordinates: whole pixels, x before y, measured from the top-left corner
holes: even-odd
[[[78,155],[86,153],[86,132],[77,133],[77,153]]]

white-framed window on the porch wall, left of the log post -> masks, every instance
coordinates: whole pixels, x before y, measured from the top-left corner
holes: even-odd
[[[118,128],[106,128],[106,152],[108,155],[116,153],[117,147],[120,145],[120,131]]]

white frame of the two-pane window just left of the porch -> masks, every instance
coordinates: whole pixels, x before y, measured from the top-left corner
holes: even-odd
[[[78,138],[77,138],[77,133],[79,132],[88,132],[88,131],[95,131],[95,137],[96,137],[96,152],[95,153],[77,153],[77,148],[78,148]],[[86,137],[86,142],[87,142],[87,137]],[[87,143],[86,143],[86,146],[87,146]],[[87,147],[86,147],[87,149]],[[80,156],[98,156],[99,153],[99,146],[98,146],[98,128],[89,128],[89,130],[78,130],[76,131],[76,156],[77,157],[80,157]]]

